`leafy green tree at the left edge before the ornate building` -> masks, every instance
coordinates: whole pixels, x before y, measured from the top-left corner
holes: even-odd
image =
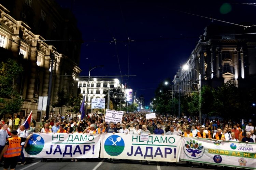
[[[0,64],[0,114],[16,113],[23,103],[16,87],[16,80],[23,72],[23,67],[12,59]]]

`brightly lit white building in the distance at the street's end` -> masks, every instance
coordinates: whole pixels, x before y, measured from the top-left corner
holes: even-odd
[[[118,79],[98,79],[90,78],[88,86],[88,78],[78,81],[78,87],[81,94],[86,97],[88,90],[88,108],[90,108],[91,99],[104,98],[108,91],[115,92],[113,89],[121,89],[122,95],[125,96],[125,86],[119,82]]]

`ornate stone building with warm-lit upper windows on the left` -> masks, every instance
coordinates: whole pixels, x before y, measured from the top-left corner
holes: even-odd
[[[3,4],[6,6],[0,4],[0,60],[14,58],[22,64],[24,71],[17,81],[17,89],[25,102],[19,114],[24,116],[33,110],[39,120],[38,97],[48,93],[51,55],[54,55],[51,103],[57,100],[59,90],[70,96],[77,95],[75,79],[82,71],[78,67],[81,43],[48,40],[72,37],[80,40],[81,33],[73,15],[53,0],[10,0]],[[64,107],[62,112],[65,111]]]

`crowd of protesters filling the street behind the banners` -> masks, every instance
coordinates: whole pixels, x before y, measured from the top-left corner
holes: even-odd
[[[242,141],[242,142],[255,142],[255,130],[245,131],[245,125],[241,122],[233,122],[231,120],[218,120],[218,119],[204,119],[200,124],[197,117],[177,118],[171,115],[159,115],[156,114],[154,119],[146,119],[146,113],[125,113],[123,115],[122,122],[105,122],[101,116],[89,115],[83,120],[80,120],[81,115],[71,118],[70,116],[53,117],[50,115],[50,119],[45,120],[42,118],[38,128],[35,126],[35,122],[31,121],[30,127],[25,129],[24,125],[19,125],[16,129],[15,119],[14,121],[10,117],[8,124],[1,120],[0,122],[0,151],[3,151],[6,146],[6,141],[9,141],[12,136],[20,137],[21,148],[20,155],[18,157],[18,164],[24,165],[25,157],[23,149],[26,147],[26,139],[29,134],[33,132],[38,133],[86,133],[86,134],[102,134],[102,133],[124,133],[124,134],[155,134],[155,135],[179,135],[184,137],[197,137],[197,138],[209,138],[213,140],[230,140],[230,141]],[[14,131],[10,131],[10,122],[14,122]],[[12,125],[12,124],[11,124]],[[252,122],[247,123],[248,126],[253,126]],[[17,130],[17,131],[16,131]],[[6,140],[9,139],[9,140]],[[10,141],[9,141],[10,142]],[[9,145],[8,142],[8,145]],[[58,159],[62,160],[62,159]],[[47,159],[43,158],[43,162]],[[77,162],[77,159],[71,161]],[[7,164],[7,163],[6,163]],[[7,165],[6,165],[7,166]]]

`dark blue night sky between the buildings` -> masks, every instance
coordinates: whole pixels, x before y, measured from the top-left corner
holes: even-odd
[[[104,65],[104,68],[94,69],[91,76],[119,76],[120,70],[122,75],[137,75],[129,79],[123,77],[122,83],[137,91],[137,97],[144,95],[145,105],[154,98],[159,83],[167,78],[173,80],[206,26],[231,25],[200,16],[237,24],[256,24],[256,6],[240,3],[253,1],[57,2],[73,12],[85,41],[82,44],[79,66],[83,72],[80,75],[88,76],[89,66],[97,65]],[[121,77],[116,78],[122,81]]]

